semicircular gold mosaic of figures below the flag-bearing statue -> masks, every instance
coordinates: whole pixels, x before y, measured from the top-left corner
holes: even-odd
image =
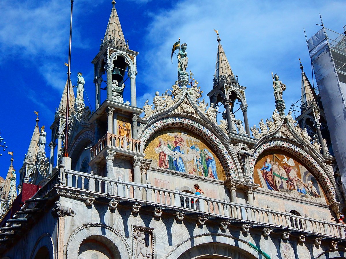
[[[209,146],[191,133],[166,130],[146,147],[146,158],[163,169],[225,180],[224,169]]]

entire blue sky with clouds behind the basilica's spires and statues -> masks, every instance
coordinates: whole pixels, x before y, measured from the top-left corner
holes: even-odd
[[[10,155],[19,170],[27,152],[39,111],[47,143],[55,108],[67,78],[70,1],[2,0],[0,11],[0,132],[8,146],[0,153],[5,177]],[[203,97],[212,89],[217,53],[216,33],[239,84],[246,86],[249,124],[271,116],[275,102],[271,72],[286,84],[286,113],[301,95],[299,60],[311,79],[303,27],[310,38],[320,27],[342,32],[344,1],[170,1],[118,0],[116,9],[129,47],[137,56],[137,105],[152,100],[155,91],[170,88],[177,77],[171,64],[172,45],[180,37],[188,45],[191,69]],[[111,0],[75,0],[71,72],[81,71],[94,109],[93,65],[111,12]],[[127,88],[129,90],[129,88]],[[105,94],[103,94],[104,98]],[[125,94],[125,99],[126,94]],[[207,100],[208,98],[206,98]],[[209,100],[208,100],[209,102]],[[88,101],[85,98],[86,105]],[[237,114],[236,114],[237,117]],[[49,155],[48,147],[46,154]]]

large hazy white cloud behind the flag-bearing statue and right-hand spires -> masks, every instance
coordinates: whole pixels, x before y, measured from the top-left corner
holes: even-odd
[[[174,9],[152,13],[153,22],[148,26],[147,48],[144,58],[138,62],[146,66],[143,75],[147,84],[146,95],[155,90],[164,92],[176,80],[176,56],[170,60],[172,45],[180,37],[188,44],[189,67],[207,93],[212,89],[217,53],[216,34],[219,30],[221,44],[239,84],[246,86],[249,124],[260,118],[270,117],[275,108],[271,71],[277,73],[287,85],[284,92],[286,112],[291,101],[300,98],[300,69],[298,58],[306,65],[311,78],[310,59],[306,48],[303,27],[308,36],[319,28],[319,12],[332,27],[344,17],[341,1],[306,2],[258,2],[247,1],[181,1]],[[338,11],[340,10],[340,11]],[[337,28],[334,28],[337,29]],[[160,86],[160,87],[157,87]],[[142,93],[143,94],[143,93]],[[138,102],[138,106],[140,103]],[[241,117],[241,111],[236,117]]]

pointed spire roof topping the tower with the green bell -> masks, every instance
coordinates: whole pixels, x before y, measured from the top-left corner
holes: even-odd
[[[115,9],[116,2],[113,0],[112,4],[113,4],[113,8],[110,13],[110,17],[109,17],[106,33],[104,34],[103,42],[108,42],[117,46],[119,45],[121,47],[124,47],[123,45],[125,44],[125,38],[124,38],[124,34],[122,33],[117,10]]]

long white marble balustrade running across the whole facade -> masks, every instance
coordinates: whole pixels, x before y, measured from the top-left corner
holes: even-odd
[[[189,211],[215,214],[227,217],[228,220],[242,220],[256,224],[268,224],[279,228],[290,227],[296,231],[307,234],[322,234],[345,238],[345,226],[322,220],[301,217],[290,213],[272,211],[247,204],[237,204],[228,201],[220,201],[200,195],[180,192],[179,190],[167,190],[152,186],[114,180],[98,175],[86,174],[75,171],[65,171],[63,178],[66,179],[64,186],[89,190],[92,192],[109,193],[127,200],[145,201],[157,204],[162,208],[178,207]]]

